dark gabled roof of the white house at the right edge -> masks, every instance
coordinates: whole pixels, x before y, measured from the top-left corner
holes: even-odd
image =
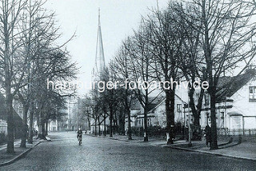
[[[223,101],[226,99],[226,97],[231,97],[254,77],[255,70],[246,70],[245,74],[240,74],[234,77],[219,78],[216,92],[216,101]]]

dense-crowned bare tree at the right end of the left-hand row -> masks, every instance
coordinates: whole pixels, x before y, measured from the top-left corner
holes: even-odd
[[[70,62],[70,56],[66,50],[53,50],[37,58],[36,91],[41,96],[36,97],[38,105],[38,127],[42,137],[45,137],[45,124],[47,120],[48,100],[52,96],[59,98],[70,97],[75,93],[74,87],[65,88],[65,82],[71,82],[76,75],[76,64]],[[49,83],[49,82],[51,83]],[[57,82],[64,82],[58,85]],[[54,84],[55,83],[55,84]]]

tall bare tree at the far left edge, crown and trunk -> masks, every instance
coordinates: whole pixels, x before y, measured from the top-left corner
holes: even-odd
[[[27,1],[6,0],[1,2],[0,8],[0,60],[4,71],[3,93],[6,95],[7,118],[7,153],[14,153],[14,95],[22,85],[24,73],[30,62],[28,56],[22,56],[19,51],[22,43],[22,30],[18,26],[22,22],[22,12],[25,10]]]

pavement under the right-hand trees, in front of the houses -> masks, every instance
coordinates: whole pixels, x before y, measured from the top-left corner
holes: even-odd
[[[113,137],[109,137],[109,135],[106,137],[98,137],[110,138],[118,141],[129,141],[126,136],[115,134]],[[185,140],[177,140],[174,141],[174,144],[172,145],[166,145],[166,140],[157,137],[149,137],[148,142],[144,142],[143,137],[132,136],[132,138],[133,140],[130,140],[130,142],[134,143],[144,143],[166,148],[182,149],[198,153],[210,153],[223,157],[234,157],[238,159],[256,161],[256,137],[253,137],[253,140],[250,141],[242,140],[241,143],[239,143],[238,138],[234,138],[232,142],[229,142],[229,138],[221,139],[218,140],[218,149],[215,150],[210,150],[210,147],[206,146],[206,141],[204,139],[202,141],[192,141],[192,146],[189,147],[188,142]]]

